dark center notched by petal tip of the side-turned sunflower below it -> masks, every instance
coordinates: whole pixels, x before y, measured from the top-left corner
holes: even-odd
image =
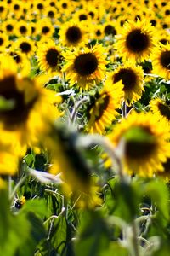
[[[137,83],[137,75],[130,68],[121,68],[118,73],[113,76],[114,83],[122,80],[123,90],[133,90]]]

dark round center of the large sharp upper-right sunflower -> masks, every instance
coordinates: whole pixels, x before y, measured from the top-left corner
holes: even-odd
[[[127,49],[134,53],[140,53],[147,49],[150,45],[150,38],[148,35],[141,32],[140,29],[135,29],[127,35],[126,46]]]

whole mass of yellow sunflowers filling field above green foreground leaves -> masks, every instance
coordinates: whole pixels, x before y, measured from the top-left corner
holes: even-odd
[[[92,143],[92,134],[103,136],[122,175],[168,177],[168,97],[137,104],[148,84],[169,83],[169,10],[167,0],[1,1],[2,177],[16,174],[29,150],[43,148],[49,172],[93,195],[80,133]],[[75,131],[67,133],[71,124]],[[98,157],[115,172],[111,154]]]

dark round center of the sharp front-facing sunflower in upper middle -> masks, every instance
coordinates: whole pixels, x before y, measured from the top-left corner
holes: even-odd
[[[74,68],[78,74],[82,76],[87,76],[97,69],[98,60],[96,56],[92,53],[82,54],[77,56],[74,62]]]

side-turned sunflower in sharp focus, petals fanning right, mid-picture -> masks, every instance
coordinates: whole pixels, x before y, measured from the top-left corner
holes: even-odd
[[[86,131],[90,133],[104,134],[105,128],[111,125],[119,113],[116,112],[120,108],[123,98],[123,85],[119,81],[114,86],[110,80],[110,84],[105,84],[95,96],[94,101],[88,107],[88,125]]]

